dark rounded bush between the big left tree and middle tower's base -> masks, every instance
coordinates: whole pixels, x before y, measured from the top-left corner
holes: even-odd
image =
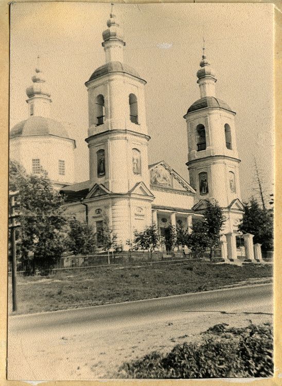
[[[93,228],[77,219],[70,220],[69,248],[75,254],[87,255],[95,252],[97,241]]]

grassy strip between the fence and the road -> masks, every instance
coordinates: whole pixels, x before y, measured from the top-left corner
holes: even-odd
[[[73,271],[53,276],[17,277],[17,313],[55,311],[207,291],[252,278],[261,282],[263,278],[271,276],[271,265],[239,267],[198,262],[96,268],[93,271]]]

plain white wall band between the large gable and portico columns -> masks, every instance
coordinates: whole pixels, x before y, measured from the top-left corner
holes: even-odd
[[[191,195],[182,195],[164,190],[157,190],[153,187],[150,188],[151,192],[155,196],[153,201],[154,205],[162,205],[171,208],[191,209],[194,204],[194,198]]]

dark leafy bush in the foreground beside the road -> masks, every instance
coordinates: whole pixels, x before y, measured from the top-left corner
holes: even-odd
[[[162,355],[153,352],[124,363],[119,378],[227,378],[273,375],[273,330],[268,323],[245,328],[219,324],[198,343],[184,343]]]

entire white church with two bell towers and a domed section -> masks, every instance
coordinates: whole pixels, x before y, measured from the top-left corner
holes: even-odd
[[[66,197],[69,214],[96,229],[105,218],[126,249],[135,230],[171,222],[190,232],[205,200],[216,200],[226,217],[224,234],[235,234],[242,217],[235,112],[215,96],[216,78],[205,55],[197,73],[200,99],[187,124],[189,182],[165,161],[148,164],[146,81],[124,63],[124,38],[113,13],[103,32],[105,64],[85,86],[88,93],[89,180],[74,183],[75,141],[49,117],[50,93],[39,68],[27,89],[29,118],[10,132],[10,158],[28,172],[42,166]],[[185,161],[184,161],[185,162]]]

